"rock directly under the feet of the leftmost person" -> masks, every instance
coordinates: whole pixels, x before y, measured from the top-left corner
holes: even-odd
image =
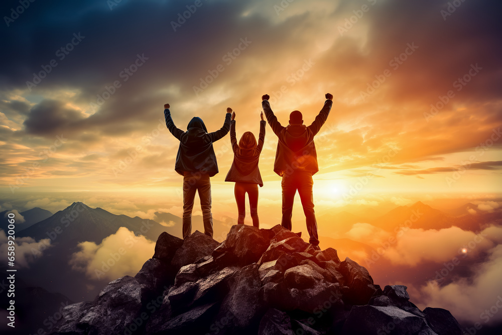
[[[199,258],[211,255],[213,250],[219,245],[206,234],[195,231],[187,237],[183,245],[174,254],[171,264],[178,272],[182,266],[195,263]]]

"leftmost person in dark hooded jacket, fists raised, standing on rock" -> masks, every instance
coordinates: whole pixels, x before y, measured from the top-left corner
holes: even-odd
[[[183,239],[192,234],[192,209],[195,191],[199,193],[204,234],[213,236],[213,217],[211,214],[211,182],[209,177],[218,173],[213,142],[218,141],[230,130],[230,113],[220,130],[208,133],[202,119],[194,117],[184,132],[178,129],[171,118],[169,103],[164,105],[166,126],[180,141],[176,156],[175,170],[183,176]]]

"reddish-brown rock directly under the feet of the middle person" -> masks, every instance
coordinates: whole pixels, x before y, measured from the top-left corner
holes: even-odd
[[[230,251],[240,266],[256,263],[270,244],[271,231],[248,225],[230,228],[226,240],[214,251],[213,257]]]

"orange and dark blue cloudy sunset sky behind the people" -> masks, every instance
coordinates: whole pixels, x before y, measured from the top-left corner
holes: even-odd
[[[295,109],[310,124],[327,92],[333,107],[316,138],[319,216],[383,214],[418,200],[502,205],[500,2],[289,1],[40,1],[18,16],[19,2],[3,2],[0,209],[56,212],[83,201],[116,214],[181,215],[179,142],[164,103],[183,130],[194,116],[217,130],[231,107],[240,138],[258,136],[262,94],[285,125]],[[259,213],[268,228],[279,223],[281,189],[277,137],[266,132]],[[213,214],[235,219],[233,183],[224,182],[229,136],[214,150]],[[301,207],[294,215],[306,232]],[[452,241],[469,241],[456,233]],[[456,236],[441,234],[438,244]],[[483,250],[502,264],[493,234]]]

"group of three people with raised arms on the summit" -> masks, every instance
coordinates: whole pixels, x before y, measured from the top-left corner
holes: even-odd
[[[314,137],[326,122],[333,104],[333,95],[325,94],[326,100],[321,111],[310,126],[303,124],[299,110],[290,114],[289,125],[282,126],[270,107],[268,94],[262,96],[265,117],[278,137],[274,172],[282,177],[282,221],[281,225],[291,230],[293,202],[298,191],[305,213],[309,242],[319,250],[317,221],[314,211],[312,175],[319,171]],[[249,206],[253,225],[259,227],[258,185],[263,186],[258,162],[265,141],[265,121],[261,114],[260,135],[258,142],[252,132],[245,132],[238,144],[235,136],[235,112],[227,108],[225,122],[220,130],[207,133],[203,121],[194,117],[184,132],[178,129],[171,118],[170,105],[164,105],[164,116],[169,131],[180,141],[176,157],[175,170],[183,176],[183,238],[191,234],[191,215],[195,192],[199,193],[204,233],[212,237],[211,183],[209,178],[218,173],[218,165],[213,150],[213,142],[224,137],[230,131],[230,143],[233,162],[225,181],[235,182],[234,195],[237,202],[238,224],[244,223],[245,193],[249,197]],[[230,121],[231,119],[231,121]]]

